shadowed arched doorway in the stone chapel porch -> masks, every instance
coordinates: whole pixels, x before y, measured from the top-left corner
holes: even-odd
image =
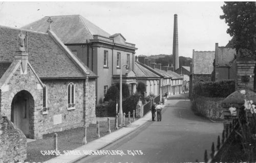
[[[11,121],[23,131],[28,138],[32,138],[34,125],[32,115],[34,112],[34,98],[27,90],[17,92],[12,99]]]

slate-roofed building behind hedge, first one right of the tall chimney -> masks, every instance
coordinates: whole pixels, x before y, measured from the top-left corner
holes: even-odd
[[[211,81],[214,71],[215,51],[195,51],[189,75],[189,97],[193,97],[194,86],[200,81]]]

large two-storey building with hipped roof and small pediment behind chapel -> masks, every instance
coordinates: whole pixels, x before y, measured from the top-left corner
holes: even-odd
[[[47,19],[32,22],[23,27],[46,32]],[[81,15],[51,16],[51,30],[80,60],[98,76],[96,80],[96,101],[104,99],[106,90],[119,82],[122,65],[123,82],[129,84],[130,93],[136,91],[134,74],[135,44],[126,42],[122,34],[110,35]]]

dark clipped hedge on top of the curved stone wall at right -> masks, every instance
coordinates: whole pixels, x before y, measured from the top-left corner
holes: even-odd
[[[204,97],[226,98],[235,90],[233,80],[222,80],[219,82],[199,82],[194,87],[194,94]]]

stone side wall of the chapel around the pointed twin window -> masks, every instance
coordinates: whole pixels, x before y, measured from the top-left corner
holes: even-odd
[[[44,134],[83,126],[84,118],[87,123],[95,123],[95,80],[89,80],[87,86],[84,79],[42,80],[42,82],[47,86],[49,108],[48,114],[42,115]],[[75,109],[72,110],[68,110],[69,83],[75,85]],[[88,91],[84,91],[84,88]],[[88,102],[84,101],[85,97]],[[59,122],[56,122],[57,119]]]

